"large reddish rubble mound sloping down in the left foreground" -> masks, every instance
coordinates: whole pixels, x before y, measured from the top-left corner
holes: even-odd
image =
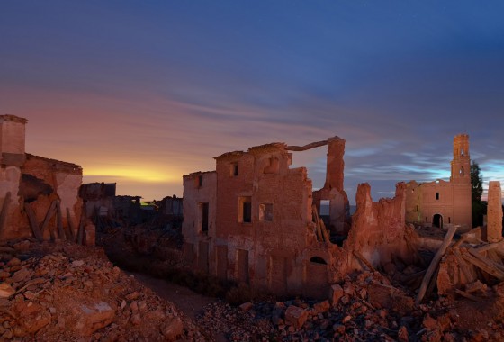
[[[100,248],[25,240],[0,257],[0,340],[205,340]]]

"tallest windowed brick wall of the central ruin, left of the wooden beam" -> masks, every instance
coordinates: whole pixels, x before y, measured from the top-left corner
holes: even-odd
[[[301,289],[302,263],[295,256],[307,244],[311,181],[305,168],[289,169],[291,158],[283,144],[217,158],[219,274],[274,293]],[[230,172],[235,166],[238,172]],[[250,202],[249,221],[244,201]]]

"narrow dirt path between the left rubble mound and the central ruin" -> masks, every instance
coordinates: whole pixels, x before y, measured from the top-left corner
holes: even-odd
[[[211,303],[217,302],[217,299],[203,296],[199,293],[194,293],[184,286],[166,282],[163,279],[157,279],[149,275],[129,272],[135,278],[148,288],[152,289],[157,295],[166,301],[173,302],[175,306],[184,312],[184,315],[194,320],[197,324],[196,316],[202,311],[202,307]],[[228,339],[223,334],[214,336],[217,342],[224,342]]]

